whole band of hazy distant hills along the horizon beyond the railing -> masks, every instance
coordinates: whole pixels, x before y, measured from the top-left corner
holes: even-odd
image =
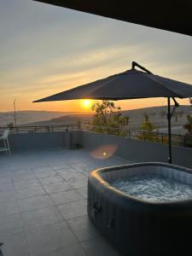
[[[166,107],[138,108],[124,110],[122,114],[130,117],[128,128],[137,130],[143,123],[144,115],[148,114],[151,122],[161,132],[167,130]],[[181,105],[177,108],[177,115],[172,117],[172,133],[183,134],[183,124],[186,123],[187,114],[192,115],[192,108],[189,105]],[[17,114],[18,125],[69,125],[87,123],[91,121],[93,113],[84,112],[50,112],[50,111],[19,111]],[[14,113],[0,113],[0,126],[14,123]]]

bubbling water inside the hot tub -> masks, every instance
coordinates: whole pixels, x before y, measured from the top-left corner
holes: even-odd
[[[180,201],[192,199],[192,185],[172,178],[153,175],[134,176],[113,182],[113,187],[144,201]]]

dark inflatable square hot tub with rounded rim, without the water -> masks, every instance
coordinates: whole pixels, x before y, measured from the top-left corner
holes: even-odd
[[[90,173],[88,215],[122,255],[192,255],[192,197],[148,201],[113,187],[116,180],[154,175],[192,186],[192,170],[164,163],[139,163]]]

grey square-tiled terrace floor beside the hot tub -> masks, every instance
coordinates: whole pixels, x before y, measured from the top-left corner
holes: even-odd
[[[98,167],[125,163],[96,160],[84,149],[1,154],[3,256],[119,255],[87,217],[87,177]]]

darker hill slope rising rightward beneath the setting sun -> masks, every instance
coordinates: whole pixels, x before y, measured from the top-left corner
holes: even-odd
[[[140,129],[141,124],[144,120],[144,115],[148,114],[151,122],[157,126],[161,132],[167,131],[167,118],[166,118],[166,107],[153,107],[153,108],[138,108],[133,110],[124,110],[122,115],[129,116],[130,122],[128,129],[137,130]],[[177,108],[176,113],[172,117],[172,133],[183,134],[183,124],[187,121],[187,114],[192,115],[192,108],[189,105],[182,105]],[[69,125],[81,123],[87,123],[91,121],[93,113],[65,113],[61,116],[54,117],[38,122],[31,122],[27,125]]]

